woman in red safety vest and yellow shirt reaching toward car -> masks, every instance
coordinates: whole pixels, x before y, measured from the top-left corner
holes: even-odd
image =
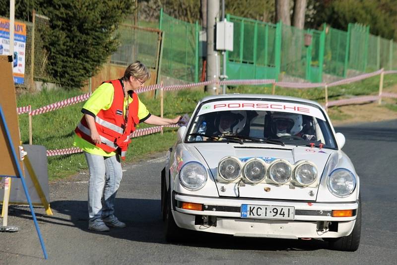
[[[165,119],[148,112],[134,90],[149,78],[146,66],[136,61],[127,67],[122,78],[103,82],[81,110],[84,115],[74,130],[73,144],[84,151],[90,173],[90,230],[109,231],[109,227],[126,226],[114,215],[114,204],[123,176],[120,157],[125,158],[135,125],[171,125],[181,118]]]

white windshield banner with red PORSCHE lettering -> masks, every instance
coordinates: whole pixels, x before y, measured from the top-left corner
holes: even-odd
[[[279,111],[297,113],[313,116],[325,121],[320,109],[299,103],[279,102],[279,101],[257,101],[257,100],[223,100],[205,103],[201,106],[198,115],[233,110],[254,110],[254,111]]]

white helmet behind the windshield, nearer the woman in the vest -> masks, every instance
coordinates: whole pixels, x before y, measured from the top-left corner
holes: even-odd
[[[218,129],[220,133],[240,133],[247,121],[245,111],[222,111],[219,114]]]

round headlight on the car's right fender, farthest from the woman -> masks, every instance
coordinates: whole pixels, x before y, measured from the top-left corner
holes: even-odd
[[[331,171],[327,186],[330,192],[337,197],[347,197],[356,188],[356,176],[345,168],[337,168]]]

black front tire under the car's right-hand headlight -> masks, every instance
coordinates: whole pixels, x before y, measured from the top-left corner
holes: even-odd
[[[328,239],[331,250],[356,251],[360,245],[361,236],[361,199],[358,199],[357,218],[351,234],[345,237]]]

